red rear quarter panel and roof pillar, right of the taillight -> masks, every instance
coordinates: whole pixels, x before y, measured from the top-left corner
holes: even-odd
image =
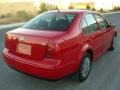
[[[80,22],[81,22],[82,14],[78,15],[76,19],[73,21],[68,31],[64,36],[59,39],[62,39],[62,42],[59,44],[61,47],[61,63],[63,65],[70,65],[70,72],[75,71],[78,62],[78,57],[80,53],[80,49],[82,46],[82,35],[80,30]],[[59,41],[57,39],[57,41]]]

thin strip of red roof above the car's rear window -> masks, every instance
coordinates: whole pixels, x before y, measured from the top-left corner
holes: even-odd
[[[80,13],[95,13],[95,11],[91,10],[52,10],[48,12],[61,12],[61,13],[74,13],[74,14],[80,14]]]

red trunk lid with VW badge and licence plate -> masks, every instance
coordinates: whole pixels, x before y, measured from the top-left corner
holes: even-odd
[[[19,28],[6,34],[5,46],[9,52],[28,59],[42,60],[47,52],[48,42],[62,32],[25,30]]]

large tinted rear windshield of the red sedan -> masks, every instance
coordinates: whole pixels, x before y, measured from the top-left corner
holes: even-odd
[[[23,28],[34,30],[66,31],[76,14],[45,12],[26,23]]]

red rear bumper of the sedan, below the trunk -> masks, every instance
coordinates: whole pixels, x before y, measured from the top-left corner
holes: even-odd
[[[62,65],[60,60],[44,59],[41,61],[32,61],[15,56],[7,49],[3,50],[5,62],[12,68],[26,74],[47,79],[60,79],[69,73],[70,65]]]

